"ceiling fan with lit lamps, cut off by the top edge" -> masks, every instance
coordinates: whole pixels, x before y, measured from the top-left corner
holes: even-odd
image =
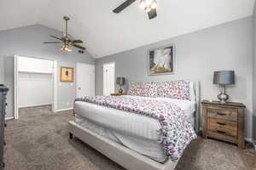
[[[113,13],[119,14],[122,10],[131,5],[131,3],[136,2],[137,0],[126,0],[125,3],[119,5],[118,8],[113,9]],[[156,0],[140,0],[139,6],[146,10],[148,13],[148,19],[154,19],[157,16],[156,8],[157,2]]]

